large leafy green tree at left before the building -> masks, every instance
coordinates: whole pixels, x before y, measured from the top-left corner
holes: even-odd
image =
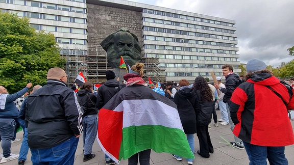
[[[52,67],[63,68],[53,34],[36,32],[26,17],[0,13],[0,85],[10,93],[24,88],[27,79],[33,85],[45,85]]]

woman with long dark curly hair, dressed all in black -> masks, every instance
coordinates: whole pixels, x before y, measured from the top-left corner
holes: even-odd
[[[193,89],[198,97],[199,106],[196,109],[197,116],[197,136],[200,150],[197,153],[205,158],[209,158],[209,153],[213,153],[213,146],[208,132],[208,124],[211,122],[213,112],[213,95],[202,76],[194,80]]]

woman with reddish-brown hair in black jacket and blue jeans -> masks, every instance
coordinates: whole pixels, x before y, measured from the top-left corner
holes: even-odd
[[[194,133],[196,133],[196,113],[195,109],[199,106],[196,93],[189,87],[189,81],[181,79],[179,82],[179,90],[175,94],[174,102],[177,104],[180,119],[187,135],[187,140],[191,151],[194,153]],[[172,155],[178,161],[182,160],[181,156]],[[193,164],[194,159],[187,158],[188,164]]]

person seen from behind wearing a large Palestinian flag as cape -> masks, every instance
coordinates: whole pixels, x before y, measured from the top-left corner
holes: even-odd
[[[99,112],[97,140],[115,162],[150,164],[151,149],[194,158],[186,139],[177,105],[146,87],[142,63],[124,75],[126,87]]]

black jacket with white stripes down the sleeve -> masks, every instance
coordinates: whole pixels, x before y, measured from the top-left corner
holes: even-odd
[[[57,146],[83,132],[77,94],[63,81],[48,79],[47,84],[27,98],[28,144],[42,149]]]

